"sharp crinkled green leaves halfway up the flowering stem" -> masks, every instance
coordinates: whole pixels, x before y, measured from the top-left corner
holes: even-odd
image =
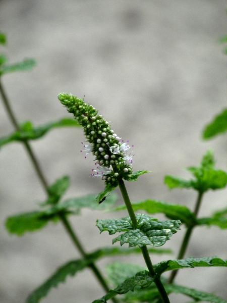
[[[158,221],[144,214],[136,214],[138,220],[138,228],[133,229],[132,221],[129,216],[122,219],[106,219],[97,220],[96,226],[100,232],[106,230],[109,234],[126,231],[117,238],[112,240],[112,243],[120,241],[120,244],[129,243],[129,247],[138,245],[151,245],[153,247],[163,245],[166,240],[180,229],[180,220]]]

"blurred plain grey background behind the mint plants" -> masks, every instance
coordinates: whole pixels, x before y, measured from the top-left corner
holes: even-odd
[[[226,136],[201,140],[205,124],[226,107],[227,57],[217,43],[226,34],[225,5],[222,0],[1,0],[1,30],[8,35],[8,45],[1,52],[11,63],[30,57],[38,62],[32,72],[3,78],[17,118],[41,125],[71,117],[59,103],[58,93],[85,95],[112,129],[134,144],[134,170],[152,171],[136,183],[127,182],[131,199],[149,197],[193,209],[196,193],[169,191],[163,177],[188,178],[184,168],[198,165],[208,148],[214,150],[217,167],[226,170]],[[0,108],[4,136],[13,127],[2,104]],[[92,156],[85,160],[79,152],[83,140],[81,129],[62,128],[31,142],[49,183],[70,175],[65,197],[104,187],[100,179],[90,176]],[[60,223],[22,237],[7,233],[7,216],[37,209],[45,193],[21,144],[4,146],[0,161],[0,302],[20,303],[56,267],[79,258],[79,253]],[[225,206],[226,190],[208,192],[199,216]],[[125,215],[84,209],[82,216],[70,221],[91,251],[111,246],[113,237],[99,235],[96,219]],[[173,255],[153,255],[153,263],[176,258],[184,230],[164,246],[172,248]],[[197,228],[186,257],[213,255],[226,258],[226,231]],[[144,265],[141,257],[133,256],[103,259],[98,265],[104,273],[105,264],[119,259]],[[226,299],[226,276],[225,268],[188,269],[180,272],[176,282]],[[51,290],[42,302],[91,302],[103,294],[93,274],[85,270]],[[170,299],[188,301],[181,295]]]

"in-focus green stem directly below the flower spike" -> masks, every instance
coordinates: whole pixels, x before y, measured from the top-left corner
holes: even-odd
[[[124,181],[122,179],[119,181],[119,187],[120,187],[123,199],[125,201],[125,205],[127,207],[129,216],[130,216],[130,218],[132,220],[133,228],[136,229],[137,228],[136,215],[135,215],[135,213],[133,211],[132,204],[131,204],[131,201],[129,199],[129,195],[128,195],[127,189],[125,187],[125,183],[124,183]],[[147,246],[141,247],[141,250],[142,250],[144,261],[145,261],[145,263],[147,265],[147,268],[148,268],[151,276],[153,276],[153,277],[155,276],[154,283],[157,286],[157,289],[158,289],[158,291],[160,293],[160,296],[161,296],[163,302],[164,303],[169,303],[169,299],[168,299],[167,293],[166,293],[166,291],[164,289],[163,284],[161,283],[160,277],[156,276],[154,267],[153,267],[152,262],[150,260],[150,256],[149,256],[149,253],[148,253]]]

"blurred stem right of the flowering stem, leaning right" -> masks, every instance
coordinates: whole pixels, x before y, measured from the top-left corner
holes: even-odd
[[[196,200],[196,205],[195,205],[195,209],[194,209],[194,215],[195,215],[196,218],[197,218],[199,208],[200,208],[200,205],[201,205],[203,193],[204,192],[199,191],[198,197],[197,197],[197,200]],[[189,226],[186,230],[184,239],[182,241],[182,244],[181,244],[181,247],[180,247],[180,250],[179,250],[179,253],[178,253],[178,257],[177,257],[178,260],[183,259],[184,256],[185,256],[185,252],[186,252],[186,249],[188,248],[188,243],[189,243],[189,240],[190,240],[190,237],[191,237],[191,234],[192,234],[192,231],[193,231],[194,227],[195,227],[194,225]],[[173,270],[172,271],[171,276],[168,279],[168,283],[173,283],[174,282],[174,279],[175,279],[177,273],[178,273],[178,270]]]

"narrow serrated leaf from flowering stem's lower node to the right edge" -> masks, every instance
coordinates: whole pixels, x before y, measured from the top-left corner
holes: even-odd
[[[177,270],[181,268],[194,268],[206,266],[227,266],[227,260],[222,260],[217,257],[190,257],[182,260],[167,260],[154,265],[157,274],[161,275],[168,270]]]

